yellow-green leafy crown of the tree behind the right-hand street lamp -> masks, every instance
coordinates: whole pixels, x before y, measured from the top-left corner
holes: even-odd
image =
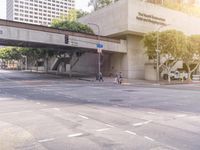
[[[146,53],[150,58],[156,56],[157,38],[161,55],[179,59],[182,56],[182,51],[187,49],[187,37],[180,31],[151,32],[146,34],[143,39]]]

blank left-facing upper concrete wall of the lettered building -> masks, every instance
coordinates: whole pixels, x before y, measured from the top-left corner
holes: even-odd
[[[111,4],[108,7],[102,8],[93,12],[79,21],[85,24],[95,23],[100,27],[101,35],[112,35],[115,33],[124,32],[128,28],[128,4],[126,0],[120,0],[116,4]],[[90,27],[98,33],[96,26]]]

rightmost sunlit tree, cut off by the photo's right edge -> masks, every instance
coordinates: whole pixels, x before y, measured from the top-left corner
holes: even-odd
[[[183,51],[182,60],[186,64],[188,70],[188,80],[191,81],[192,73],[200,65],[200,35],[188,37],[187,49]]]

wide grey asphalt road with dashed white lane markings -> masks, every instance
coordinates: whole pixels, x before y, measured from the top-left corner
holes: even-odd
[[[200,86],[0,70],[0,150],[199,150]]]

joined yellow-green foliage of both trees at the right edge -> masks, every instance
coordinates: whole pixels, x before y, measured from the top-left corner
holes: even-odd
[[[143,39],[146,54],[154,61],[156,60],[157,39],[159,39],[159,55],[165,58],[165,61],[161,62],[159,67],[166,69],[170,73],[173,65],[178,60],[182,60],[187,66],[189,80],[191,80],[191,74],[200,65],[200,35],[188,37],[176,30],[146,34]]]

